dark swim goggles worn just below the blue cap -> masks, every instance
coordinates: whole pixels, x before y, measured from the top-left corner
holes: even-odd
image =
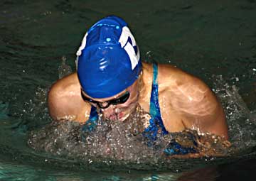
[[[122,94],[121,96],[117,97],[116,99],[112,99],[110,101],[106,101],[106,102],[97,102],[95,100],[90,99],[89,97],[85,97],[84,94],[82,94],[81,91],[81,95],[82,95],[82,99],[85,102],[89,102],[90,104],[97,104],[98,107],[100,107],[101,109],[106,109],[107,107],[109,107],[111,104],[112,105],[117,105],[117,104],[124,104],[124,102],[127,102],[127,100],[129,99],[129,92],[124,92],[124,94]]]

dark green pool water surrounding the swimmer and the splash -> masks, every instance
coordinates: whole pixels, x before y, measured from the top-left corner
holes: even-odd
[[[142,60],[176,65],[218,95],[237,150],[225,158],[91,163],[37,152],[50,84],[75,70],[95,21],[121,16]],[[255,180],[256,1],[0,1],[0,180]],[[63,58],[66,64],[62,65]]]

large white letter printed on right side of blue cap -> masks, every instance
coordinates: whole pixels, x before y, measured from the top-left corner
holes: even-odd
[[[131,45],[131,43],[128,42],[128,38],[131,38],[132,45]],[[127,26],[124,26],[122,28],[122,34],[119,38],[119,43],[121,44],[121,47],[124,48],[124,50],[129,55],[129,59],[130,59],[131,64],[132,64],[132,70],[134,70],[134,68],[136,67],[136,65],[139,62],[139,47],[137,46],[137,55],[136,55],[135,50],[133,48],[136,45],[136,41],[135,41],[135,38],[132,35],[131,31],[129,31],[129,28]]]

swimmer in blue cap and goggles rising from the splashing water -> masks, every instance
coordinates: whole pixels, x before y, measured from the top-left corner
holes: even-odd
[[[53,119],[86,124],[101,114],[125,121],[140,106],[149,114],[142,119],[145,135],[192,129],[228,139],[225,113],[209,87],[172,65],[142,62],[122,18],[97,21],[76,55],[77,72],[58,79],[48,93]]]

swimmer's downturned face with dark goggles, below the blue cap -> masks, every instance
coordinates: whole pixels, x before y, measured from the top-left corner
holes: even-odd
[[[89,103],[92,104],[92,106],[96,106],[100,109],[105,119],[111,121],[124,121],[137,106],[139,100],[138,80],[113,97],[94,99],[87,96],[84,92],[82,92],[82,97],[87,102],[89,100]],[[118,104],[119,102],[120,104]]]

